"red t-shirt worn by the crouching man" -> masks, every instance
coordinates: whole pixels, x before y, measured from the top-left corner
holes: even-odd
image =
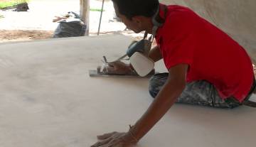
[[[164,11],[160,11],[164,18]],[[168,6],[166,21],[156,33],[167,69],[189,65],[186,81],[207,80],[220,97],[242,102],[252,87],[250,57],[242,46],[190,9]]]

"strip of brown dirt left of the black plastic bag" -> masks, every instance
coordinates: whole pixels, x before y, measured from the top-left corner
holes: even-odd
[[[0,43],[10,41],[25,41],[48,39],[53,36],[53,31],[23,31],[23,30],[0,30]]]

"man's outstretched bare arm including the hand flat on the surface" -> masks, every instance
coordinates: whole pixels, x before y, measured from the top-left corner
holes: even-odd
[[[100,140],[92,147],[128,147],[137,143],[160,119],[171,106],[176,102],[186,86],[186,71],[188,65],[176,65],[169,70],[169,77],[166,84],[152,102],[149,109],[139,121],[126,133],[112,132],[97,136]]]

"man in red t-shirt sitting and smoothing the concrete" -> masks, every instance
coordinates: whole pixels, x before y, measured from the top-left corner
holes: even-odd
[[[250,57],[226,33],[183,6],[165,6],[158,0],[112,1],[127,28],[155,33],[157,46],[149,58],[154,62],[163,58],[169,72],[151,77],[154,102],[127,133],[98,136],[100,141],[93,146],[137,143],[175,102],[218,108],[255,104],[249,101],[255,87]],[[154,26],[158,26],[155,32]],[[108,70],[119,69],[130,70],[122,62]]]

